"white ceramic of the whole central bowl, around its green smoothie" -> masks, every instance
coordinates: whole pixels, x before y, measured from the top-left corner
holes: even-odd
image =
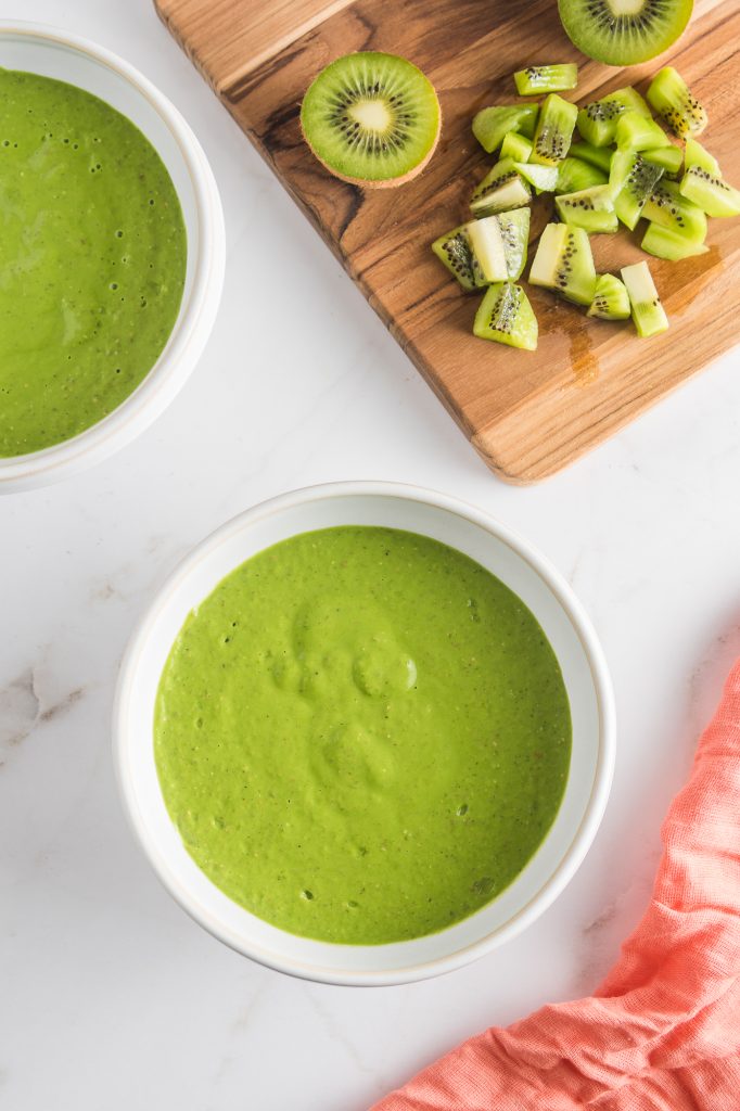
[[[527,603],[562,669],[573,724],[564,798],[543,843],[492,903],[440,933],[384,945],[294,937],[219,891],[186,851],[162,800],[152,743],[154,699],[186,617],[236,567],[299,532],[379,524],[423,533],[492,571]],[[232,949],[271,968],[341,984],[390,984],[458,968],[514,937],[550,905],[583,860],[603,814],[614,761],[614,710],[591,624],[558,572],[526,541],[454,498],[388,482],[313,487],[224,524],[176,570],[127,649],[113,712],[114,757],[133,832],[180,905]]]

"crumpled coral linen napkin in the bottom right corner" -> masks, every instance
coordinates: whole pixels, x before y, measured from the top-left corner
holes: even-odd
[[[740,660],[596,994],[471,1038],[373,1111],[740,1111]]]

